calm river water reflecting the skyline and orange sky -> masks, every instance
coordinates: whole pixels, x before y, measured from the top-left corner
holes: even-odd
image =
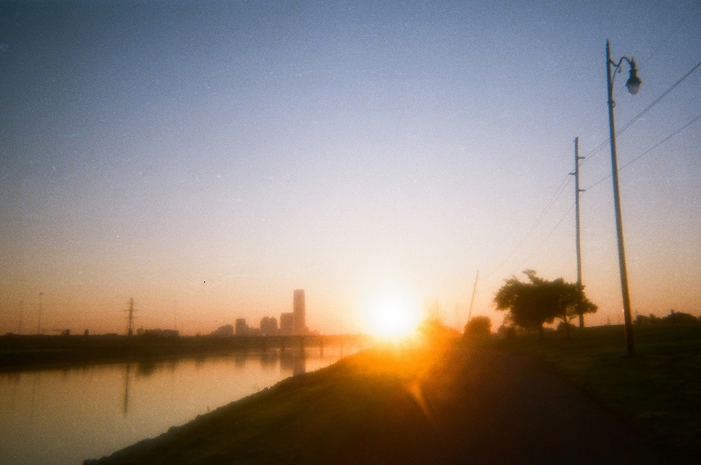
[[[0,373],[0,464],[81,464],[349,353],[272,349]]]

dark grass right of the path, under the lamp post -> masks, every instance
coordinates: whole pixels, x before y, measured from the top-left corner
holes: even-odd
[[[627,356],[621,326],[518,335],[476,344],[524,353],[588,391],[652,443],[701,463],[701,325],[634,327]]]

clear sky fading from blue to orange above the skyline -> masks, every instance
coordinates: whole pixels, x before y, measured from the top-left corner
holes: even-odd
[[[699,316],[698,1],[4,2],[0,334],[121,333],[130,298],[257,326],[297,288],[321,332],[387,296],[461,327],[477,271],[496,329],[505,279],[576,281],[575,137],[586,322],[622,323],[607,39],[643,81],[614,80],[632,309]]]

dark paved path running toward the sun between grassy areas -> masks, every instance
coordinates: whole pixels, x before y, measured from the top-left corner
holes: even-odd
[[[426,373],[423,396],[445,461],[465,464],[658,464],[627,425],[535,360],[452,349]]]

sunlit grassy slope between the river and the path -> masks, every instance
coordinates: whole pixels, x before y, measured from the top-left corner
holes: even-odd
[[[431,365],[430,356],[418,347],[362,351],[103,457],[100,464],[333,464],[341,458],[433,463],[435,450],[427,443],[437,438],[407,390]]]

